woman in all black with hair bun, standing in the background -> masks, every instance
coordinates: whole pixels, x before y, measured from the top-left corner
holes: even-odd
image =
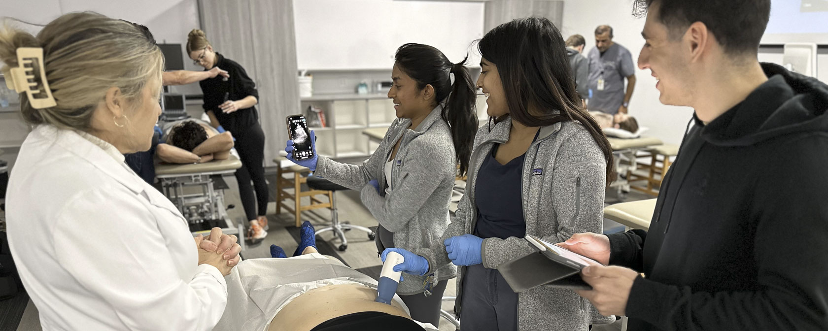
[[[242,167],[236,170],[238,194],[249,221],[248,240],[267,237],[267,181],[264,178],[264,132],[258,122],[258,91],[241,65],[213,50],[204,31],[193,29],[187,52],[195,65],[227,70],[228,78],[216,76],[199,82],[204,108],[212,127],[222,127],[236,139]],[[219,129],[221,131],[221,129]],[[253,185],[250,181],[253,180]],[[253,194],[253,188],[256,193]]]

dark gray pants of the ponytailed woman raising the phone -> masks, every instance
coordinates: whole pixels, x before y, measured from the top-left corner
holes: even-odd
[[[383,228],[382,225],[377,227],[377,250],[380,254],[385,248],[394,247],[394,233]],[[403,275],[403,277],[405,277]],[[438,281],[431,289],[431,295],[426,296],[422,293],[416,295],[400,295],[402,302],[405,302],[408,310],[412,313],[412,319],[416,319],[422,323],[431,323],[439,327],[440,323],[440,305],[443,301],[443,292],[445,292],[445,285],[448,281]]]

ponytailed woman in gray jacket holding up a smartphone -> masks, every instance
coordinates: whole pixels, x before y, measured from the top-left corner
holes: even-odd
[[[389,247],[419,252],[439,241],[449,223],[457,165],[465,173],[477,131],[476,94],[465,60],[452,63],[440,50],[420,44],[401,46],[394,59],[388,98],[397,120],[368,161],[331,161],[316,155],[315,147],[313,157],[296,160],[292,141],[285,151],[315,175],[361,192],[363,204],[379,221],[378,252]],[[315,142],[314,132],[310,141]],[[413,319],[437,325],[445,283],[455,272],[455,266],[445,264],[405,276],[397,294]]]

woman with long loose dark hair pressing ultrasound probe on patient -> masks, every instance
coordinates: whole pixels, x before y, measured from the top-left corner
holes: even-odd
[[[435,252],[396,250],[395,270],[460,266],[455,311],[464,330],[585,330],[607,323],[572,290],[514,293],[497,267],[535,252],[527,234],[563,242],[601,233],[612,150],[582,107],[561,32],[546,18],[504,23],[480,40],[488,127],[477,132],[469,180]],[[418,257],[417,255],[420,255]],[[436,259],[434,259],[436,257]]]

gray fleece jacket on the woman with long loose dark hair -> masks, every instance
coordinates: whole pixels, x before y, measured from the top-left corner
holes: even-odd
[[[441,239],[474,233],[477,222],[474,184],[480,165],[495,143],[508,140],[511,127],[511,118],[507,118],[496,124],[491,132],[486,126],[477,132],[465,195]],[[578,122],[542,127],[537,141],[529,146],[523,163],[522,204],[526,233],[548,242],[563,242],[575,233],[601,233],[605,184],[604,154],[585,127]],[[481,257],[484,267],[494,269],[505,261],[532,252],[523,238],[489,237],[483,241]],[[440,245],[431,246],[431,250],[421,249],[417,253],[429,259],[432,267],[450,263],[442,240]],[[465,268],[460,267],[457,277],[455,314],[461,311],[463,304]],[[580,330],[588,324],[607,323],[613,319],[597,314],[588,300],[572,290],[544,285],[524,291],[518,297],[517,325],[521,331]]]

